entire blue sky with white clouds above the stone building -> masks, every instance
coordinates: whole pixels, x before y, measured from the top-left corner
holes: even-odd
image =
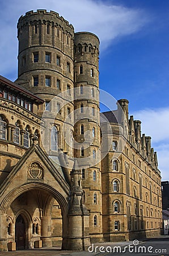
[[[169,1],[1,0],[0,6],[0,70],[12,81],[18,65],[16,24],[26,11],[56,11],[75,32],[99,36],[100,88],[129,100],[129,114],[152,137],[162,180],[169,180]]]

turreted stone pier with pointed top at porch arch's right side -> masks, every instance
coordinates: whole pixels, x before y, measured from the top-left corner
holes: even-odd
[[[90,246],[89,214],[84,205],[82,190],[82,171],[78,170],[75,160],[73,171],[70,172],[70,209],[69,234],[67,238],[68,250],[86,250]]]

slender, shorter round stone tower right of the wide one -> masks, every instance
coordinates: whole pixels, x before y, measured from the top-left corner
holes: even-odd
[[[85,204],[90,209],[91,241],[96,242],[102,241],[99,39],[90,32],[75,33],[74,87],[74,154],[80,159]]]

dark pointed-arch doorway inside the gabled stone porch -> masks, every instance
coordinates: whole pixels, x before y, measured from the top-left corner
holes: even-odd
[[[26,224],[21,214],[18,215],[15,222],[15,242],[16,242],[16,250],[25,249],[26,242]]]

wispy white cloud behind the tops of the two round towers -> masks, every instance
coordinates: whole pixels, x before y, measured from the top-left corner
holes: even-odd
[[[47,9],[56,11],[73,24],[75,31],[89,31],[98,35],[101,46],[108,47],[119,36],[140,30],[148,21],[143,10],[129,9],[121,5],[106,5],[93,0],[30,0],[1,1],[0,63],[2,75],[10,76],[16,70],[18,50],[16,23],[26,11]],[[11,78],[11,77],[9,77]]]

